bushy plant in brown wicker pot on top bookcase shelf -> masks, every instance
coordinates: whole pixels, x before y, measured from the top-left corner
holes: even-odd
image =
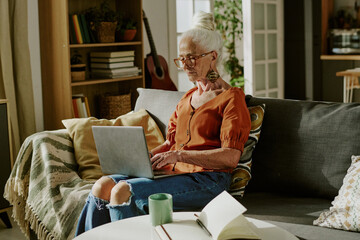
[[[108,0],[103,1],[100,7],[85,10],[85,16],[92,30],[95,30],[99,42],[115,42],[115,32],[120,30],[122,25],[122,15],[110,7]]]

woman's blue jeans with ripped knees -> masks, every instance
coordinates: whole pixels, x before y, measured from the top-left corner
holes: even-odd
[[[75,236],[124,218],[149,213],[148,197],[153,193],[170,193],[174,211],[201,210],[208,202],[230,186],[231,174],[224,172],[200,172],[159,178],[130,178],[111,175],[115,183],[126,181],[131,197],[120,205],[109,205],[108,201],[89,194],[80,214]]]

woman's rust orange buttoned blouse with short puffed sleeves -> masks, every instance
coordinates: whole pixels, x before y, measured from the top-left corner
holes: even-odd
[[[197,87],[190,89],[176,106],[168,123],[167,140],[170,150],[209,150],[235,148],[243,152],[251,128],[244,92],[230,88],[197,109],[191,97]],[[175,170],[183,172],[215,171],[183,162]]]

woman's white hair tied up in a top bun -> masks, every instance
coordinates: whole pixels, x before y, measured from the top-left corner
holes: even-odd
[[[215,30],[213,14],[199,11],[192,18],[191,29],[184,32],[181,39],[190,37],[205,51],[216,51],[218,54],[217,65],[219,65],[222,59],[223,41],[220,33]]]

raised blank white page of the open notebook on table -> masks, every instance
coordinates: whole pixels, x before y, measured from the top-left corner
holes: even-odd
[[[199,219],[211,232],[213,238],[218,239],[225,226],[245,211],[243,205],[224,191],[204,207]]]

